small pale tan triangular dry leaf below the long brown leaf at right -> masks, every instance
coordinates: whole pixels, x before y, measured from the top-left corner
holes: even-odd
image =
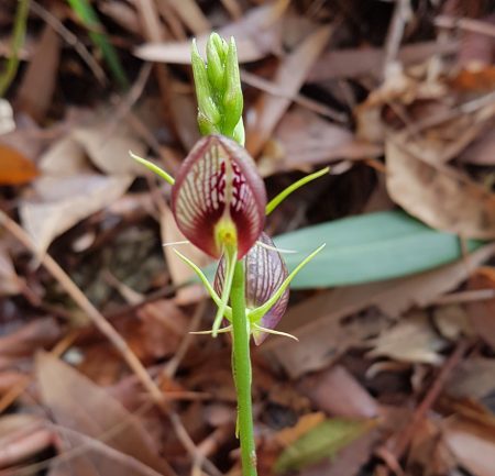
[[[438,365],[443,361],[439,352],[448,342],[435,331],[426,313],[416,311],[370,344],[374,347],[367,354],[370,357]]]

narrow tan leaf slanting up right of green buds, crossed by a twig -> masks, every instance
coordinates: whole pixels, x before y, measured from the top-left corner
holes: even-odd
[[[282,60],[273,82],[286,97],[263,93],[254,108],[248,112],[245,147],[253,156],[262,151],[287,111],[292,102],[288,98],[295,96],[306,81],[309,69],[321,55],[331,33],[331,26],[321,26]]]

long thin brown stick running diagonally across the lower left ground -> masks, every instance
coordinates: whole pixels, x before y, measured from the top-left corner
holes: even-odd
[[[28,233],[15,223],[9,215],[0,210],[0,224],[3,225],[16,240],[19,240],[40,263],[50,272],[50,274],[61,284],[64,290],[74,299],[74,301],[86,312],[91,322],[98,328],[98,330],[110,341],[120,355],[124,358],[129,367],[134,372],[143,387],[152,397],[153,402],[158,409],[166,414],[183,443],[184,447],[190,454],[194,461],[204,462],[205,467],[213,475],[221,476],[221,473],[216,466],[208,460],[204,458],[197,451],[195,443],[188,435],[184,428],[179,417],[172,412],[165,400],[165,396],[162,390],[156,386],[154,380],[148,375],[146,368],[141,361],[129,347],[125,340],[113,329],[113,326],[105,319],[100,311],[91,303],[91,301],[85,296],[85,294],[76,286],[70,279],[67,273],[62,269],[58,263],[52,258],[47,253],[40,253],[36,250],[35,244],[28,235]]]

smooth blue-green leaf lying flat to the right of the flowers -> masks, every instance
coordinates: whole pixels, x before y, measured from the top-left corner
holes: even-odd
[[[316,259],[300,270],[293,289],[333,287],[378,281],[426,272],[462,257],[460,239],[430,229],[403,211],[362,214],[307,226],[278,235],[279,248],[307,253],[327,243]],[[474,251],[483,244],[469,240]],[[286,255],[289,269],[300,261]]]

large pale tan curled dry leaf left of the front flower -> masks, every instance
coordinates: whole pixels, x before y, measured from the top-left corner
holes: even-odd
[[[43,176],[34,182],[36,196],[21,202],[22,223],[40,251],[120,198],[143,171],[129,156],[130,150],[141,155],[145,152],[132,131],[125,124],[92,121],[92,125],[75,128],[46,151],[40,159]],[[111,175],[95,174],[91,165]]]

